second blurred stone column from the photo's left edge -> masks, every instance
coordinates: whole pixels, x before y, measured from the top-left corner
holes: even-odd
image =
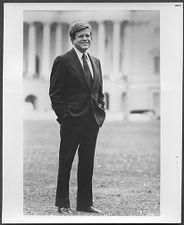
[[[41,76],[45,80],[49,80],[50,74],[50,24],[43,24],[43,46],[42,46],[42,65]]]

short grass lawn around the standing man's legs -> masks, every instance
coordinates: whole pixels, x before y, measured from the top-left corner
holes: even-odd
[[[59,215],[55,207],[59,124],[24,121],[24,214]],[[70,200],[77,212],[74,159]],[[160,123],[105,122],[100,128],[93,176],[94,206],[105,216],[160,213]]]

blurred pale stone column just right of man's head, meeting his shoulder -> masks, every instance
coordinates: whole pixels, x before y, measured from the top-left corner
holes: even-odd
[[[104,71],[105,59],[105,25],[103,21],[98,23],[98,57],[100,59],[102,70]]]

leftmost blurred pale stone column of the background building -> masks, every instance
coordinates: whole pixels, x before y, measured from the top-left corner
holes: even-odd
[[[36,28],[31,23],[28,28],[28,68],[27,77],[33,78],[36,73]]]

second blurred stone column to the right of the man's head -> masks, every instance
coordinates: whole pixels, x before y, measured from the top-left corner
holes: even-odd
[[[112,52],[112,80],[118,80],[120,76],[120,28],[121,22],[113,23],[113,52]]]

